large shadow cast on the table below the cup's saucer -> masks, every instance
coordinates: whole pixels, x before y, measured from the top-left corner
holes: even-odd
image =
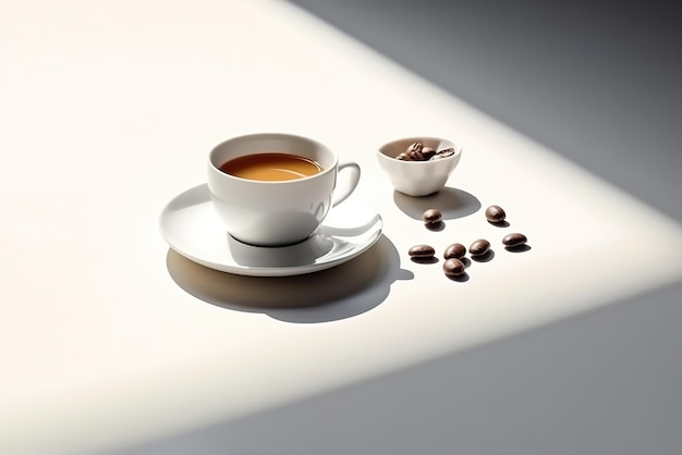
[[[400,268],[398,249],[385,235],[349,262],[295,276],[226,273],[193,262],[171,248],[166,265],[180,287],[206,303],[296,323],[362,315],[386,299],[394,281],[414,278]]]

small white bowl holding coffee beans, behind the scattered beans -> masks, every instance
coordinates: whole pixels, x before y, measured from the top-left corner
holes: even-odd
[[[403,161],[397,157],[414,143],[436,151],[453,148],[454,155],[434,161]],[[393,187],[409,196],[427,196],[446,186],[448,177],[460,162],[462,146],[440,137],[405,137],[382,145],[377,150],[379,165]]]

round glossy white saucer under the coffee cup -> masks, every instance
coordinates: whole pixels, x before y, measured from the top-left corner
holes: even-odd
[[[292,246],[257,247],[228,235],[211,206],[208,187],[178,195],[161,212],[163,238],[172,249],[208,268],[251,276],[317,272],[366,251],[381,235],[381,217],[351,198],[334,207],[308,239]]]

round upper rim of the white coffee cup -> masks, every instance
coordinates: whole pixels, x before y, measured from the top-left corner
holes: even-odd
[[[253,179],[244,179],[244,177],[239,177],[236,175],[232,175],[232,174],[228,174],[227,172],[223,172],[220,170],[219,165],[216,165],[216,160],[215,160],[215,155],[218,152],[218,150],[228,145],[229,143],[235,143],[238,140],[251,140],[251,139],[256,139],[256,138],[279,138],[279,139],[296,139],[296,140],[303,140],[306,142],[308,144],[312,144],[316,149],[320,149],[320,150],[326,150],[330,156],[331,156],[331,165],[328,167],[322,167],[320,163],[318,163],[322,170],[316,174],[313,175],[306,175],[304,177],[301,179],[293,179],[293,180],[279,180],[279,181],[265,181],[265,180],[253,180]],[[258,153],[282,153],[282,155],[295,155],[295,153],[287,153],[287,152],[282,152],[282,151],[273,151],[273,150],[264,150],[257,153],[243,153],[243,155],[239,155],[236,157],[233,158],[239,158],[239,157],[243,157],[246,155],[258,155]],[[305,157],[307,158],[307,157]],[[222,175],[229,180],[234,180],[238,182],[246,182],[249,184],[256,184],[256,185],[295,185],[299,184],[301,182],[306,182],[306,181],[310,181],[310,180],[315,180],[315,179],[320,179],[324,175],[327,175],[330,172],[334,172],[334,170],[337,169],[337,167],[339,165],[339,156],[337,152],[334,152],[331,148],[327,147],[325,144],[320,143],[319,140],[313,139],[310,137],[307,136],[302,136],[302,135],[297,135],[297,134],[290,134],[290,133],[251,133],[251,134],[244,134],[244,135],[239,135],[239,136],[233,136],[230,137],[221,143],[219,143],[218,145],[214,146],[214,148],[210,150],[210,152],[208,153],[208,165],[211,169],[211,171],[217,172],[219,175]]]

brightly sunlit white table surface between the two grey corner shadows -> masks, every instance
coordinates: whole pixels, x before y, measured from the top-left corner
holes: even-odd
[[[677,222],[287,3],[4,1],[0,100],[2,453],[126,446],[682,280]],[[275,131],[361,164],[377,245],[283,279],[169,250],[160,211],[210,148]],[[412,135],[464,146],[437,196],[394,194],[377,165]],[[515,231],[531,250],[501,248]],[[465,282],[406,255],[478,237],[496,254]]]

